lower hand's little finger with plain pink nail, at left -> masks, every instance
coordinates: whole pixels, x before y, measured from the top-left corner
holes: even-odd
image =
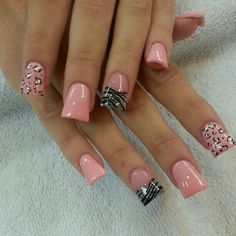
[[[41,101],[40,101],[41,100]],[[103,163],[75,122],[61,119],[62,99],[49,85],[42,99],[29,99],[47,132],[54,138],[67,160],[91,185],[105,175]]]

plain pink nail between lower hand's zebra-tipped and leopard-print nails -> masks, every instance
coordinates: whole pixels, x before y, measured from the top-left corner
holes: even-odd
[[[191,197],[207,188],[205,180],[188,161],[175,163],[172,174],[184,198]]]

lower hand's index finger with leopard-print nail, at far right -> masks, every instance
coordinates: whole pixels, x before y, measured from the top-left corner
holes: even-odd
[[[213,156],[236,145],[214,109],[194,91],[175,65],[162,72],[144,67],[142,75],[141,83],[145,89],[172,112]]]

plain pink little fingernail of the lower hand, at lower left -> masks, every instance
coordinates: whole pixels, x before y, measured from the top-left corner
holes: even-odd
[[[90,154],[84,154],[79,164],[89,185],[105,175],[104,168]]]

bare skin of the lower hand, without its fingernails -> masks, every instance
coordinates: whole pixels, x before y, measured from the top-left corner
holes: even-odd
[[[0,7],[0,67],[5,77],[14,89],[18,89],[21,74],[24,33],[26,30],[27,2],[11,1],[11,4],[1,3]],[[181,24],[185,28],[181,28]],[[186,27],[186,25],[188,27]],[[194,32],[197,22],[194,19],[178,22],[173,35],[174,39],[183,39]],[[11,29],[11,30],[9,30]],[[177,33],[176,33],[177,32]],[[67,160],[81,172],[79,157],[91,153],[101,165],[86,137],[97,147],[109,165],[128,187],[131,187],[129,173],[135,168],[151,168],[123,136],[110,113],[96,104],[91,113],[89,123],[61,119],[63,106],[63,77],[68,48],[68,36],[65,36],[60,48],[60,60],[57,61],[52,84],[48,85],[45,96],[41,99],[29,97],[41,124],[59,145]],[[141,66],[139,82],[162,105],[171,111],[202,145],[201,127],[209,120],[222,124],[213,108],[200,97],[185,80],[184,75],[175,66],[168,70],[157,72],[145,65]],[[178,91],[181,89],[181,93]],[[175,92],[176,91],[176,92]],[[187,116],[186,116],[187,113]],[[191,162],[199,170],[187,144],[168,126],[156,106],[136,84],[133,97],[125,113],[117,112],[119,118],[140,138],[150,153],[167,174],[173,184],[172,166],[180,160]],[[148,122],[147,122],[148,121]],[[223,124],[222,124],[223,125]],[[110,134],[113,138],[110,138]],[[155,176],[155,173],[153,173]],[[159,179],[159,178],[157,178]]]

